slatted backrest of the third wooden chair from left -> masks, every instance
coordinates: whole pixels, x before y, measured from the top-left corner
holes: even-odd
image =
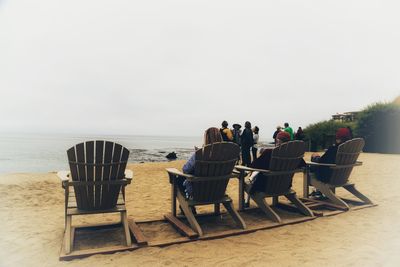
[[[305,148],[303,141],[291,141],[273,149],[269,170],[277,173],[268,175],[268,178],[266,178],[264,183],[266,194],[279,195],[286,193],[291,188],[294,176],[294,172],[291,171],[298,168],[304,156]]]

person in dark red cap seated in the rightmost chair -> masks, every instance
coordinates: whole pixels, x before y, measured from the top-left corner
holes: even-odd
[[[352,139],[352,134],[350,130],[348,128],[339,128],[336,131],[335,144],[331,145],[322,156],[320,156],[318,153],[312,154],[311,161],[318,163],[334,164],[336,161],[336,154],[339,145],[343,144],[344,142],[350,139]],[[326,177],[329,177],[329,172],[330,172],[329,167],[325,166],[313,166],[313,168],[311,168],[311,173],[315,174],[317,179],[322,182],[327,182]]]

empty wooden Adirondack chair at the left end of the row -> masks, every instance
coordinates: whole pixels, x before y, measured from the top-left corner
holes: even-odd
[[[120,251],[132,245],[125,207],[125,186],[132,172],[125,170],[129,150],[107,141],[88,141],[67,151],[70,172],[58,176],[65,189],[65,254],[73,251],[72,216],[97,213],[120,213],[126,246],[99,250]]]

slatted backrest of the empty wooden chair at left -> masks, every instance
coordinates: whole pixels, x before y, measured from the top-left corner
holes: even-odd
[[[101,210],[114,208],[118,201],[121,185],[104,182],[125,177],[129,150],[108,141],[87,141],[67,150],[73,181],[83,182],[74,186],[77,208]],[[102,181],[103,184],[84,182]]]

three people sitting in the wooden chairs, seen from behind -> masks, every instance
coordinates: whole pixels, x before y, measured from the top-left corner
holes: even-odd
[[[311,161],[313,162],[319,162],[319,163],[335,163],[336,160],[336,153],[338,146],[352,138],[351,131],[348,128],[339,128],[336,132],[336,142],[335,144],[332,144],[323,155],[319,155],[317,153],[312,154],[311,156]],[[290,133],[287,131],[280,131],[277,136],[276,136],[276,144],[275,146],[278,147],[286,142],[291,141],[291,136]],[[217,142],[222,142],[225,141],[223,138],[223,135],[221,134],[220,129],[211,127],[207,129],[204,133],[204,144],[203,146],[217,143]],[[272,156],[272,151],[274,148],[265,148],[260,150],[260,153],[258,157],[253,160],[253,162],[249,163],[248,166],[250,168],[254,169],[263,169],[263,170],[268,170],[269,169],[269,164],[271,161],[271,156]],[[242,162],[243,165],[246,164],[246,162]],[[305,167],[306,163],[302,159],[299,162],[298,168]],[[191,155],[189,160],[184,164],[182,171],[183,173],[186,174],[193,174],[194,173],[194,168],[195,168],[195,153]],[[328,172],[329,168],[328,167],[323,167],[323,166],[318,166],[318,167],[313,167],[311,168],[311,172],[313,175],[316,176],[316,178],[322,182],[325,182],[326,177],[328,177]],[[252,184],[252,189],[254,191],[257,191],[258,189],[261,189],[264,187],[264,183],[266,181],[266,177],[263,177],[262,173],[259,172],[252,172],[250,176],[248,177],[248,181]],[[181,187],[181,189],[184,190],[186,193],[186,197],[190,198],[191,193],[192,193],[192,186],[189,181],[187,181],[184,177],[181,177],[180,181],[178,182],[178,185]],[[318,192],[314,191],[314,194],[318,195]]]

